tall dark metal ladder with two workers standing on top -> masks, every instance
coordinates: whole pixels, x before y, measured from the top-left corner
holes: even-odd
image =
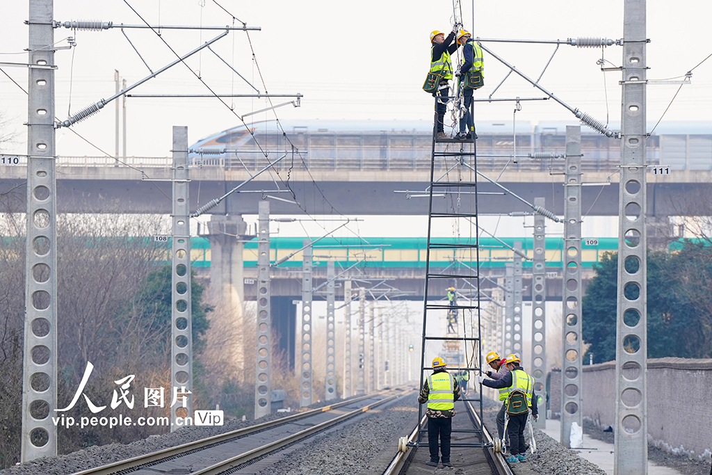
[[[448,98],[456,99],[456,98]],[[436,101],[438,98],[435,99]],[[470,108],[470,113],[474,113],[474,101]],[[437,102],[436,102],[437,108]],[[474,117],[474,115],[473,115]],[[461,401],[471,401],[475,407],[478,407],[479,417],[482,420],[482,397],[477,393],[478,385],[476,378],[481,374],[482,356],[481,356],[481,335],[480,335],[480,256],[479,256],[479,221],[477,212],[477,145],[474,138],[474,133],[471,140],[461,141],[453,139],[438,139],[437,138],[437,114],[433,123],[433,138],[431,148],[430,162],[430,186],[429,204],[428,204],[428,238],[426,246],[426,266],[425,266],[425,290],[423,301],[423,332],[422,332],[422,357],[421,357],[421,375],[420,387],[427,377],[427,374],[432,370],[429,363],[432,357],[440,354],[448,348],[464,348],[465,356],[464,364],[457,366],[451,365],[446,360],[448,371],[452,375],[457,375],[460,371],[467,371],[472,377],[468,384],[468,394],[461,395]],[[437,169],[437,172],[436,172]],[[441,173],[441,169],[444,169]],[[466,171],[471,177],[468,181],[460,181],[461,173]],[[436,176],[437,173],[437,176]],[[453,179],[454,176],[454,179]],[[438,202],[434,201],[434,197],[441,198]],[[463,199],[465,197],[465,199]],[[447,208],[447,204],[454,204],[451,209]],[[462,211],[461,204],[466,202],[468,209]],[[439,229],[442,225],[451,225],[453,220],[458,221],[457,224],[467,224],[468,228],[473,230],[471,236],[466,238],[442,239],[433,237],[434,229]],[[442,267],[438,265],[441,259],[442,251],[451,251],[451,263],[449,266]],[[437,254],[437,256],[436,256]],[[463,259],[468,257],[467,261]],[[453,286],[457,289],[461,286],[462,290],[458,292],[459,296],[463,297],[464,303],[456,302],[454,306],[448,303],[439,303],[441,298],[446,295],[445,288]],[[449,311],[457,312],[457,323],[454,331],[446,330],[445,334],[429,333],[428,323],[433,320],[439,320],[445,323],[445,319]],[[466,325],[465,314],[470,315],[471,328]],[[441,325],[439,325],[439,328]],[[446,327],[447,328],[447,327]],[[429,352],[429,342],[443,342],[444,350],[439,350],[437,354]],[[469,353],[468,353],[469,349]],[[429,353],[431,353],[429,355]],[[419,404],[418,420],[423,417],[423,411],[426,404]],[[461,415],[464,417],[464,414]],[[473,432],[477,434],[478,442],[454,442],[451,447],[483,447],[486,442],[483,439],[482,429],[453,429],[452,432]],[[422,434],[426,433],[426,429],[419,430],[417,442],[412,445],[426,445],[422,443]]]

